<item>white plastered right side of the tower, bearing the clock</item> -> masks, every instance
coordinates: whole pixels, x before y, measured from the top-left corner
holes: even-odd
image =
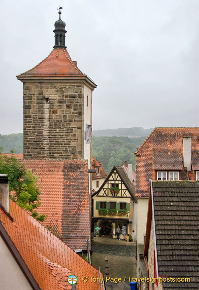
[[[87,95],[88,95],[88,107],[87,107]],[[92,132],[92,90],[87,86],[84,86],[84,137],[86,132],[86,124],[91,125]],[[91,143],[86,144],[84,138],[84,159],[88,159],[89,169],[91,169]]]

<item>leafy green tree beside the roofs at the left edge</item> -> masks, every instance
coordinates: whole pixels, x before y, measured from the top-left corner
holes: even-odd
[[[14,150],[12,149],[12,152]],[[20,207],[30,212],[32,217],[43,221],[45,215],[37,213],[40,206],[40,187],[36,183],[37,177],[27,170],[24,162],[17,160],[14,154],[7,157],[0,155],[0,174],[8,175],[10,198]]]

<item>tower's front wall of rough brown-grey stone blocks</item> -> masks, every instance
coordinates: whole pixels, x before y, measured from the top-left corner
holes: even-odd
[[[83,159],[83,83],[24,82],[24,158]]]

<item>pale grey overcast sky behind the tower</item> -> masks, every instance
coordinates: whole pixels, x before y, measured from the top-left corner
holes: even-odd
[[[199,0],[0,0],[0,134],[23,132],[16,75],[66,46],[98,85],[93,130],[199,126]]]

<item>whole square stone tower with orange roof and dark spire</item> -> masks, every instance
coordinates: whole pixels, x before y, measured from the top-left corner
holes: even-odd
[[[92,92],[97,85],[71,60],[61,13],[51,53],[17,76],[24,86],[24,158],[88,159],[90,168]]]

